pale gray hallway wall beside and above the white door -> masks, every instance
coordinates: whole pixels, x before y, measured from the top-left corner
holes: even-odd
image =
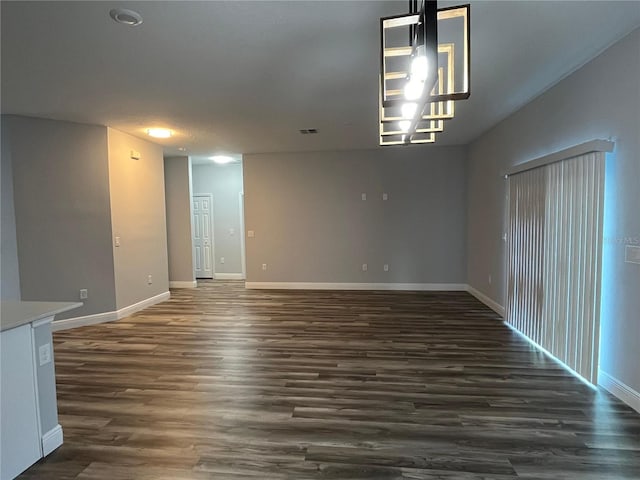
[[[241,273],[240,197],[242,165],[194,165],[193,193],[213,194],[214,272]],[[233,229],[233,234],[231,234]],[[225,263],[220,262],[224,257]]]

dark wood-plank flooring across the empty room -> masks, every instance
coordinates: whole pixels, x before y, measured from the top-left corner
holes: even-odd
[[[204,282],[54,340],[65,442],[22,479],[640,478],[640,415],[466,293]]]

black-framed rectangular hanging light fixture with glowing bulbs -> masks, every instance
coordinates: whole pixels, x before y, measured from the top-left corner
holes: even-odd
[[[380,19],[380,145],[433,143],[469,98],[470,6],[409,0]]]

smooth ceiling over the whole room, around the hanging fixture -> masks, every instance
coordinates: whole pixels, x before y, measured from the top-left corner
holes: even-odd
[[[144,23],[113,22],[114,7]],[[408,2],[1,8],[3,113],[138,136],[166,126],[176,135],[154,141],[168,154],[211,155],[375,148],[379,17],[406,13]],[[638,1],[472,1],[471,98],[437,144],[469,143],[638,26]]]

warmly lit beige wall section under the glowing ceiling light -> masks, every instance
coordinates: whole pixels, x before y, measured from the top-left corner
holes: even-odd
[[[128,307],[169,291],[162,147],[108,129],[109,188],[116,306]],[[131,150],[142,156],[131,158]],[[151,275],[153,283],[149,284]]]

